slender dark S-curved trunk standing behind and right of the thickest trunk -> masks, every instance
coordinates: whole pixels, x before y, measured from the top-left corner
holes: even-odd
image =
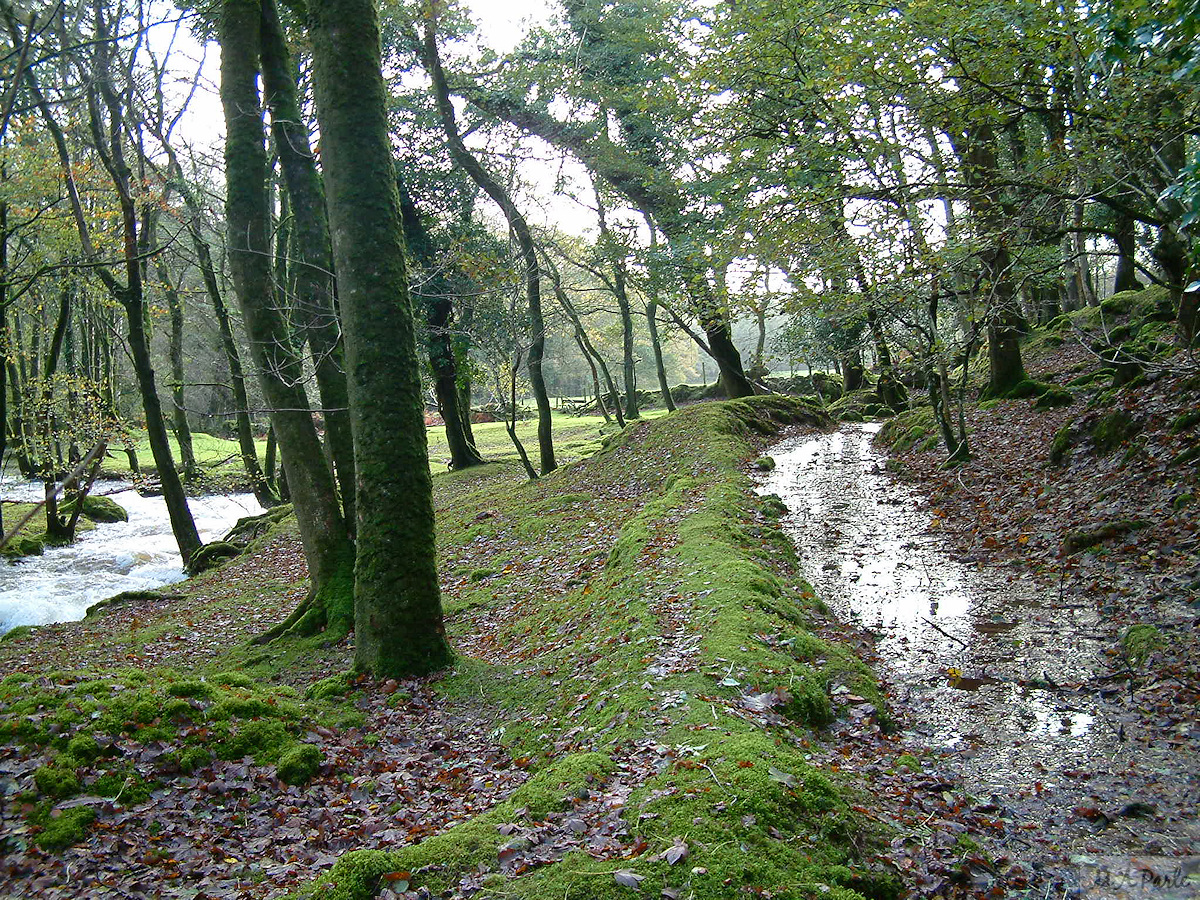
[[[438,55],[437,23],[427,22],[425,30],[425,43],[422,49],[424,65],[433,80],[433,95],[437,101],[438,113],[442,116],[442,128],[445,132],[446,144],[455,162],[479,185],[482,191],[492,198],[508,220],[521,248],[521,259],[524,265],[526,301],[529,305],[529,386],[533,389],[534,402],[538,404],[538,455],[541,463],[541,474],[553,472],[558,463],[554,461],[554,437],[551,420],[550,395],[546,392],[546,379],[541,373],[542,356],[546,352],[546,323],[541,314],[541,269],[538,265],[538,250],[533,242],[533,234],[526,222],[521,210],[512,203],[512,198],[503,186],[485,169],[479,161],[467,150],[462,137],[458,134],[458,126],[455,124],[454,104],[450,102],[450,89],[446,85],[445,73],[442,71],[442,59]]]

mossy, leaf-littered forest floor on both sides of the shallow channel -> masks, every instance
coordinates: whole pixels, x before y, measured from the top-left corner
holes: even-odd
[[[968,404],[954,469],[925,410],[881,443],[938,552],[996,584],[995,642],[938,689],[1088,710],[1062,714],[1061,756],[1020,722],[930,742],[919,690],[750,491],[785,421],[828,420],[706,403],[536,482],[437,474],[458,653],[437,678],[355,677],[353,636],[247,643],[304,595],[288,521],[0,642],[0,898],[1196,895],[1198,385],[1162,366],[1112,390],[1051,337],[1026,361],[1081,380],[1069,406]],[[1001,756],[1027,778],[997,790]]]

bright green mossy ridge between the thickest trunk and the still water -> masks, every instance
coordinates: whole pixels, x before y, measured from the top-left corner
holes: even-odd
[[[301,895],[365,900],[397,871],[413,872],[414,886],[437,895],[476,866],[494,865],[505,840],[496,824],[514,806],[529,805],[535,817],[527,797],[535,785],[552,786],[539,814],[562,809],[571,785],[611,770],[629,742],[644,740],[674,748],[665,770],[626,804],[632,841],[644,850],[612,862],[569,854],[488,882],[481,895],[616,900],[630,895],[613,878],[619,869],[642,875],[647,896],[685,887],[684,895],[715,899],[728,896],[730,884],[776,898],[896,895],[895,883],[860,856],[872,828],[852,810],[852,790],[815,770],[798,746],[834,714],[830,682],[876,700],[878,691],[850,652],[806,628],[820,601],[794,576],[791,545],[757,517],[746,490],[742,469],[755,456],[755,436],[791,418],[823,421],[780,398],[703,404],[626,428],[584,463],[534,482],[509,480],[497,491],[504,466],[479,472],[479,480],[469,472],[439,476],[442,565],[456,580],[451,637],[478,635],[476,616],[503,606],[490,640],[509,660],[460,660],[439,689],[505,710],[503,740],[538,775],[509,803],[438,838],[344,854]],[[620,485],[642,490],[634,499]],[[599,522],[619,523],[611,546]],[[478,546],[494,553],[487,575],[473,577],[485,570],[476,556],[467,562]],[[530,575],[547,557],[578,568],[565,589],[542,589]],[[677,622],[700,637],[694,665],[647,674]],[[751,691],[778,692],[773,724],[738,714]],[[571,730],[594,749],[556,752],[554,736]],[[689,844],[686,865],[661,856],[676,840]],[[707,871],[689,874],[696,870]]]

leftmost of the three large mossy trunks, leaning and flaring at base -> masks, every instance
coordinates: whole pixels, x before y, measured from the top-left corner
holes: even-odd
[[[305,396],[300,358],[271,276],[263,107],[258,95],[259,0],[226,0],[221,16],[221,103],[226,115],[229,271],[271,422],[280,439],[312,593],[306,626],[353,623],[350,542],[332,473]],[[306,613],[307,614],[307,613]]]

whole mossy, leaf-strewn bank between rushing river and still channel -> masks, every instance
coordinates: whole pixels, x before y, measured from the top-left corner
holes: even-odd
[[[439,476],[461,655],[434,679],[348,674],[353,638],[247,646],[304,590],[287,522],[184,586],[5,641],[0,890],[896,895],[853,785],[806,758],[830,688],[877,692],[810,632],[820,604],[748,490],[786,424],[826,420],[703,404],[538,482]]]

